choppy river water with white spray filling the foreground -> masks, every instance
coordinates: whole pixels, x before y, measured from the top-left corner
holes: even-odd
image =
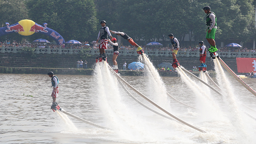
[[[198,81],[189,86],[181,77],[159,79],[146,72],[142,76],[122,76],[173,115],[206,131],[202,133],[142,107],[128,96],[104,66],[96,66],[95,72],[92,76],[56,75],[60,83],[57,102],[65,111],[110,130],[52,112],[52,88],[48,75],[0,74],[0,144],[256,143],[256,121],[245,114],[256,117],[256,112],[241,107],[244,104],[256,109],[256,97],[229,74],[226,78],[235,102],[205,88]],[[217,81],[216,78],[213,80]],[[256,79],[243,80],[256,89]],[[128,90],[148,107],[161,112]],[[165,91],[199,110],[173,101]],[[236,112],[232,112],[233,109]]]

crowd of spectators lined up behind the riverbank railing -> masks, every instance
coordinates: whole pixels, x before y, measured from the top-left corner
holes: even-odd
[[[32,48],[50,48],[50,49],[98,49],[99,43],[96,43],[96,41],[93,42],[82,42],[82,44],[70,44],[66,43],[65,46],[59,46],[57,44],[53,43],[16,43],[16,42],[7,42],[7,43],[0,43],[0,47],[32,47]],[[158,46],[141,46],[144,50],[147,51],[172,51],[171,47],[158,47]],[[113,49],[113,46],[108,45],[108,49]],[[127,50],[136,50],[137,48],[135,46],[120,46],[119,49],[127,49]],[[219,52],[255,52],[254,49],[248,49],[245,48],[230,48],[230,47],[223,47],[218,48]],[[183,52],[195,52],[199,51],[198,46],[194,47],[184,47],[181,46],[179,51]]]

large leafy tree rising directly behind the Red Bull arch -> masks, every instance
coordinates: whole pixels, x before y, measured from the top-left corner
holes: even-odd
[[[65,40],[92,40],[98,21],[93,0],[28,0],[26,4],[35,23],[47,23]]]

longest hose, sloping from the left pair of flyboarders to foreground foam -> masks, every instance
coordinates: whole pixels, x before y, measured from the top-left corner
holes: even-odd
[[[107,64],[107,63],[105,63]],[[149,99],[148,97],[146,97],[145,95],[143,95],[141,92],[139,92],[137,89],[135,89],[133,86],[131,86],[130,84],[128,84],[124,79],[122,79],[115,71],[113,71],[113,69],[108,65],[108,68],[111,70],[111,72],[113,72],[113,74],[116,76],[117,79],[119,79],[120,81],[122,81],[123,83],[125,83],[129,88],[131,88],[134,92],[136,92],[138,95],[140,95],[141,97],[143,97],[145,100],[147,100],[148,102],[150,102],[151,104],[153,104],[155,107],[157,107],[158,109],[160,109],[161,111],[165,112],[167,115],[171,116],[172,118],[175,118],[177,121],[180,121],[183,124],[186,124],[187,126],[198,130],[199,132],[206,132],[204,130],[201,130],[198,127],[195,127],[189,123],[187,123],[186,121],[183,121],[182,119],[176,117],[175,115],[171,114],[170,112],[166,111],[165,109],[163,109],[162,107],[160,107],[159,105],[157,105],[156,103],[154,103],[154,101],[151,101],[151,99]]]

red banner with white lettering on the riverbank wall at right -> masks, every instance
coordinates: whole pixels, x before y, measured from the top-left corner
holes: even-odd
[[[236,58],[237,72],[256,72],[256,58]]]

